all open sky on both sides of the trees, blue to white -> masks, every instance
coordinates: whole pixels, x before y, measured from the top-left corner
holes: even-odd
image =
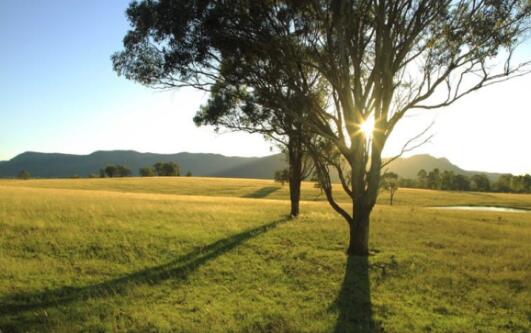
[[[264,156],[260,135],[216,134],[192,121],[207,98],[193,89],[154,91],[112,70],[128,29],[129,0],[0,1],[0,161],[24,151],[208,152]],[[531,46],[523,49],[531,59]],[[409,153],[446,157],[467,170],[531,173],[531,76],[408,117],[392,155],[435,120],[430,143]]]

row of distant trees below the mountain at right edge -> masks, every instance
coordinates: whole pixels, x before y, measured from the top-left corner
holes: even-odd
[[[419,170],[416,179],[400,178],[400,187],[425,188],[443,191],[478,191],[531,193],[531,175],[504,174],[491,181],[485,174],[465,176],[453,171]]]

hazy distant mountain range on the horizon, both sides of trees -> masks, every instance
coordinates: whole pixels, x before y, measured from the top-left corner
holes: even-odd
[[[181,173],[191,171],[194,176],[236,177],[270,179],[276,170],[286,167],[282,154],[265,157],[233,157],[219,154],[178,153],[153,154],[132,150],[96,151],[89,155],[25,152],[9,161],[0,161],[0,177],[15,177],[21,170],[28,170],[33,177],[62,178],[88,176],[110,164],[122,164],[138,175],[138,169],[156,162],[176,162]],[[467,171],[452,164],[446,158],[415,155],[393,161],[387,170],[405,178],[416,178],[420,169],[434,168],[458,174],[472,175],[479,171]],[[499,174],[485,173],[490,178]],[[335,177],[334,177],[335,178]]]

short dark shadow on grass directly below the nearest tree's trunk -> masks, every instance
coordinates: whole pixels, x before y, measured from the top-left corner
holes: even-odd
[[[379,332],[372,319],[367,257],[348,256],[345,277],[334,306],[339,312],[334,332]]]

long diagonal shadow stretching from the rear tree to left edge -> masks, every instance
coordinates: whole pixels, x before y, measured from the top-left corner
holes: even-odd
[[[16,316],[26,311],[66,305],[88,298],[114,296],[123,293],[127,288],[134,285],[153,285],[168,279],[184,280],[189,274],[193,273],[198,267],[208,261],[230,251],[250,238],[275,228],[278,224],[285,221],[287,219],[277,220],[247,230],[209,245],[199,247],[164,265],[147,268],[101,283],[85,287],[62,287],[50,291],[8,295],[0,299],[0,317],[5,315]]]

